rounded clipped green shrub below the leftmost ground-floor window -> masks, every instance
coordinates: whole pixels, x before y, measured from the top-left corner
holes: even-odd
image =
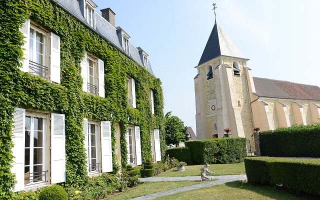
[[[39,193],[39,200],[66,200],[67,193],[60,185],[52,185],[44,187]]]

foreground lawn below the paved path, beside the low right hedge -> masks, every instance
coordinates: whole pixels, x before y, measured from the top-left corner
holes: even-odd
[[[171,195],[155,198],[160,199],[254,199],[254,200],[297,200],[305,199],[302,197],[294,196],[293,194],[279,191],[272,187],[252,186],[241,181],[227,182],[224,184],[214,185],[200,189],[193,189],[184,192],[178,192]]]

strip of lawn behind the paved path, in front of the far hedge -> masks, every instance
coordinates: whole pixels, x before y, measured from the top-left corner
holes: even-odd
[[[177,171],[176,168],[160,174],[159,176],[189,176],[189,175],[200,175],[201,165],[190,165],[185,166],[184,171]],[[214,171],[214,175],[234,175],[245,173],[244,163],[235,164],[210,164],[209,170]]]

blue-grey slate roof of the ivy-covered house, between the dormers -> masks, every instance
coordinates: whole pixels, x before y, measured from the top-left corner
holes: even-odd
[[[85,24],[88,28],[96,31],[104,39],[113,44],[116,48],[126,54],[120,44],[119,37],[116,33],[116,28],[113,27],[106,19],[104,19],[98,12],[94,10],[95,17],[95,27],[88,25],[83,16],[83,2],[84,0],[51,0],[54,3],[57,3],[62,9],[73,15],[77,20]],[[138,49],[130,42],[129,40],[129,55],[132,60],[136,61],[139,65],[143,66],[143,61],[139,56]],[[149,59],[148,59],[149,61]],[[144,66],[143,66],[144,67]],[[151,64],[149,63],[148,71],[150,74],[153,74]]]

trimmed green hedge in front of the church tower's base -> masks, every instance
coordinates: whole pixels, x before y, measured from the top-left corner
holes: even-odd
[[[246,156],[246,138],[223,137],[184,142],[192,164],[238,163]]]

